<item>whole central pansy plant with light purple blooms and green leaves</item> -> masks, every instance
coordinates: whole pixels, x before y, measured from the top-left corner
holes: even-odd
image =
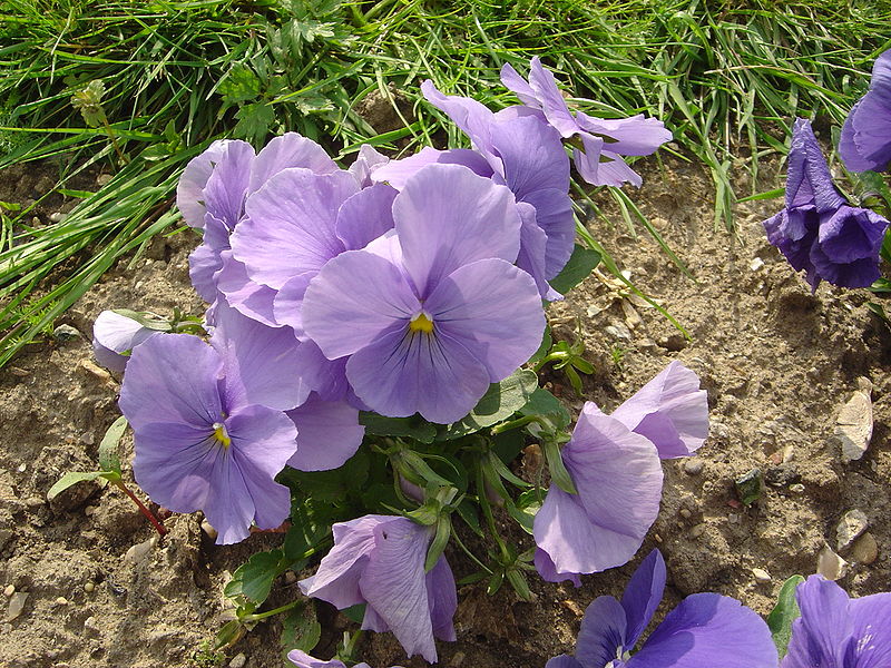
[[[611,414],[586,403],[571,432],[530,370],[551,358],[548,302],[598,259],[575,244],[571,163],[591,184],[639,186],[624,157],[670,132],[574,114],[538,59],[528,80],[506,67],[502,81],[521,104],[499,111],[421,86],[471,148],[389,159],[364,146],[344,169],[295,134],[260,151],[213,143],[177,191],[203,235],[189,264],[204,318],[97,320],[97,357],[125,369],[145,493],[202,511],[221,544],[285,533],[227,586],[237,619],[221,645],[277,612],[293,629],[305,598],[257,610],[275,576],[314,568],[303,595],[435,661],[434,640],[456,638],[447,553],[464,552],[477,570],[463,582],[490,592],[507,581],[528,597],[536,571],[578,586],[634,557],[658,512],[660,460],[704,442],[705,391],[678,362]],[[530,443],[547,466],[525,479],[511,463]],[[317,629],[297,626],[296,665],[342,665],[313,659]],[[355,660],[354,645],[341,658]]]

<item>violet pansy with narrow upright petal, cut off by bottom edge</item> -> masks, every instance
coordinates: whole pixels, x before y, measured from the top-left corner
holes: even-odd
[[[653,550],[621,601],[601,596],[585,610],[575,656],[555,657],[546,668],[776,668],[776,648],[764,620],[717,593],[685,598],[631,654],[664,589],[665,561]],[[807,664],[816,666],[823,664]]]

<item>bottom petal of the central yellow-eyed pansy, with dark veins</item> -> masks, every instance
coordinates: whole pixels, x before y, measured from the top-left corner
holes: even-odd
[[[536,293],[537,294],[537,293]],[[450,424],[467,415],[489,389],[489,373],[460,342],[434,330],[396,325],[346,362],[359,399],[391,418],[421,413]]]

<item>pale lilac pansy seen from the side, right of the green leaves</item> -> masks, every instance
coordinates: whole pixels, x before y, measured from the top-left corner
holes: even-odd
[[[578,491],[552,485],[533,522],[536,567],[570,580],[627,562],[659,511],[659,459],[686,456],[708,435],[695,373],[672,362],[611,415],[588,402],[561,456]]]

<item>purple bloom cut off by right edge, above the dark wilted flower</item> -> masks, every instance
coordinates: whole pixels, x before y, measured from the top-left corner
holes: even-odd
[[[851,171],[883,171],[891,163],[891,49],[872,67],[870,89],[842,126],[839,154]]]

